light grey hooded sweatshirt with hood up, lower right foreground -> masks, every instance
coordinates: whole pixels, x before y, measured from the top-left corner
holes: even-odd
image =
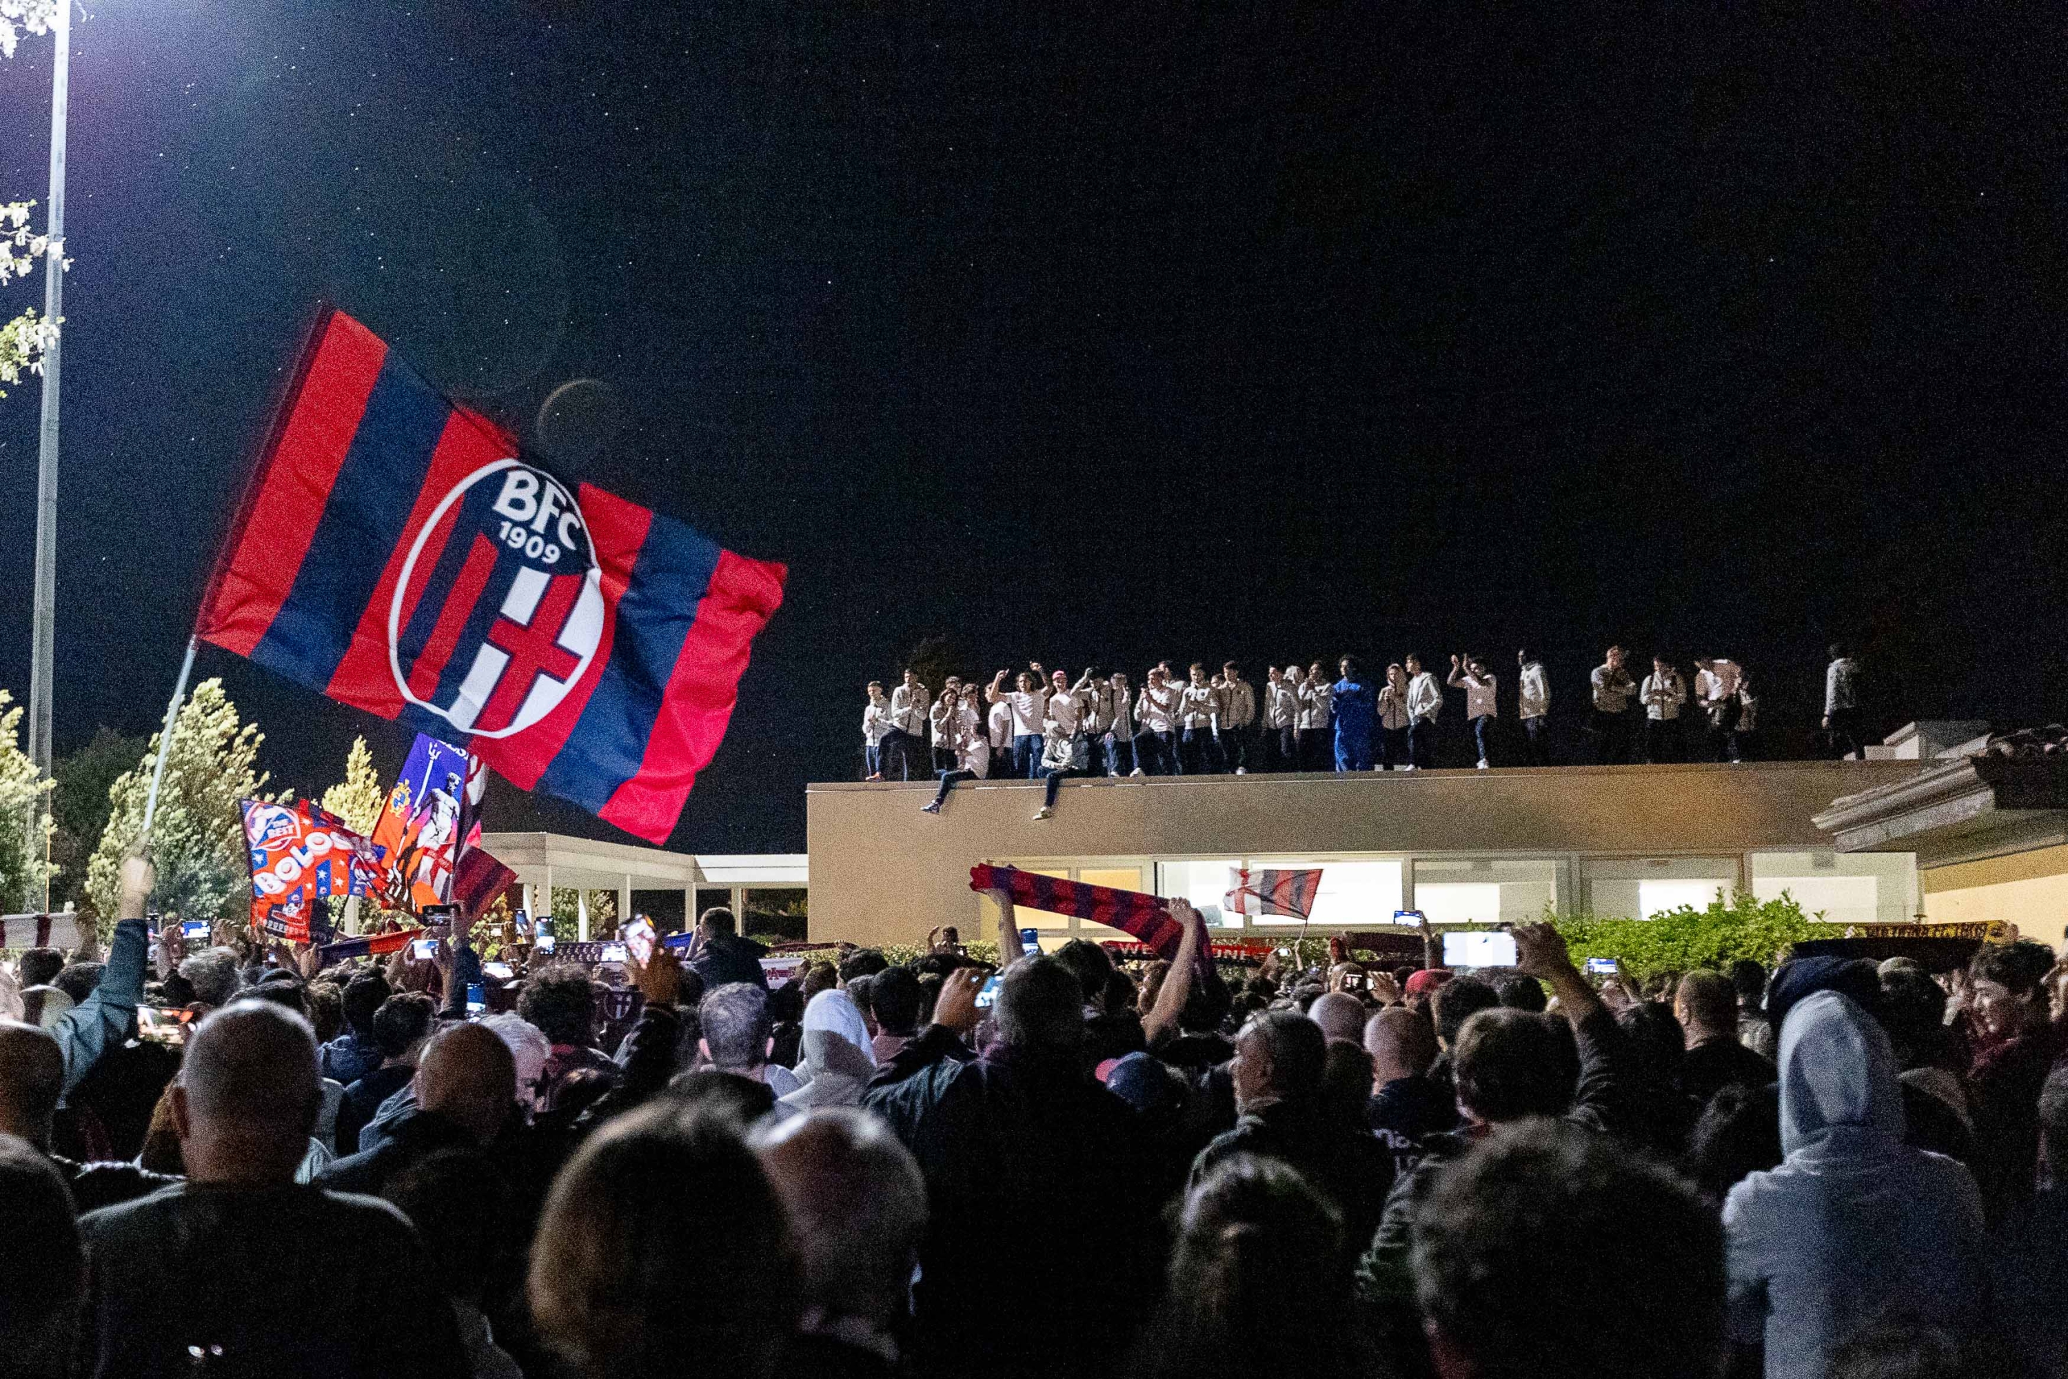
[[[1903,1143],[1894,1050],[1851,997],[1814,992],[1781,1028],[1781,1150],[1723,1203],[1731,1340],[1764,1342],[1766,1379],[1822,1379],[1884,1315],[1975,1331],[1981,1193]]]

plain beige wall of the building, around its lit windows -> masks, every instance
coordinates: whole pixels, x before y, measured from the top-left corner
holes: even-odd
[[[1555,767],[1365,775],[1084,779],[1036,823],[1040,784],[972,782],[939,817],[922,782],[807,788],[811,937],[918,943],[970,928],[976,862],[1086,864],[1388,852],[1741,856],[1826,848],[1836,796],[1915,775],[1913,761]],[[974,932],[966,937],[976,937]]]

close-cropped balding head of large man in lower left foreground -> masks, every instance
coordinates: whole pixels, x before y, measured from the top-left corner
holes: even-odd
[[[186,1042],[172,1114],[188,1176],[277,1187],[294,1181],[316,1125],[316,1036],[271,1001],[234,1001]]]

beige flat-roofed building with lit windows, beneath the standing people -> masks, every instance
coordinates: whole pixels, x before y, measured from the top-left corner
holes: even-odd
[[[1220,903],[1233,866],[1319,864],[1309,932],[1396,910],[1435,924],[1532,920],[1545,906],[1648,916],[1719,889],[1789,891],[1845,924],[1913,922],[1917,860],[1841,852],[1818,827],[1834,798],[1898,786],[1929,761],[1547,767],[1361,775],[1187,775],[1065,782],[1034,821],[1038,782],[970,782],[922,815],[931,782],[807,788],[811,937],[920,943],[937,924],[995,932],[970,866],[1030,870]],[[1063,937],[1123,939],[1030,914]],[[976,928],[982,924],[982,928]],[[1226,916],[1284,934],[1297,920]]]

